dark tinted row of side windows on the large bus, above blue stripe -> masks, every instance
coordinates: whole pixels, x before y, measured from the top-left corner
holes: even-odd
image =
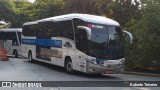
[[[66,37],[74,39],[71,20],[24,25],[22,33],[24,36],[37,36],[38,38]]]

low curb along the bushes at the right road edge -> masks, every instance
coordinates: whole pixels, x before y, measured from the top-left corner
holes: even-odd
[[[143,72],[123,71],[122,74],[131,74],[131,75],[142,75],[142,76],[160,77],[160,74],[155,74],[155,73],[143,73]]]

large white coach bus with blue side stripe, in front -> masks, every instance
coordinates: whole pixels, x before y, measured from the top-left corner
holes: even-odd
[[[120,73],[125,61],[124,34],[118,22],[103,16],[72,13],[26,22],[22,28],[22,53],[64,67],[67,73]]]

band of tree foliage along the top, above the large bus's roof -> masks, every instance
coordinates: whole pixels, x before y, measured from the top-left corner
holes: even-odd
[[[30,3],[28,0],[0,0],[2,6],[6,9],[4,10],[4,14],[0,13],[0,17],[11,21],[12,27],[21,27],[24,22],[56,15],[89,13],[113,18],[124,26],[134,15],[138,16],[139,13],[137,9],[139,4],[133,5],[131,1],[132,0],[36,0],[35,3]],[[11,18],[14,19],[10,20]]]

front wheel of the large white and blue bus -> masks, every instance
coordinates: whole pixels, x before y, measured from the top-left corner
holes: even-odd
[[[65,70],[67,73],[72,74],[73,73],[73,65],[71,59],[67,59],[65,61]]]

